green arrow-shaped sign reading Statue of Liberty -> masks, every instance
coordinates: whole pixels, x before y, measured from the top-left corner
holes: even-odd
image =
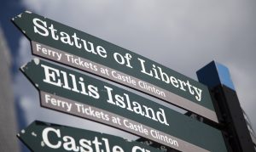
[[[210,93],[200,82],[38,14],[26,11],[13,22],[31,41],[34,55],[102,76],[218,122]]]

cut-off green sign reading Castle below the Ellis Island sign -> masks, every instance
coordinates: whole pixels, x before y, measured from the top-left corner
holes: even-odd
[[[75,127],[34,121],[17,137],[32,151],[160,152],[146,144]]]

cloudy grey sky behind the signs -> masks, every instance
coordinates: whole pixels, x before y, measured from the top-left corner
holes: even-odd
[[[38,92],[18,70],[33,58],[29,41],[10,22],[25,10],[100,37],[195,80],[196,70],[212,60],[226,65],[241,107],[256,131],[254,0],[4,1],[1,25],[14,60],[15,96],[20,99],[27,123],[49,121],[119,134],[124,132],[40,108]]]

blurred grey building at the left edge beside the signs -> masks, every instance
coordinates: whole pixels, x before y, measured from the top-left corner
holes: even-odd
[[[0,26],[0,151],[20,151],[11,76],[12,60]]]

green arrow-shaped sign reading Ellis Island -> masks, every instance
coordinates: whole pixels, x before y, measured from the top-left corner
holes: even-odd
[[[224,152],[222,133],[125,89],[33,59],[20,68],[41,106],[100,122],[180,151]]]

